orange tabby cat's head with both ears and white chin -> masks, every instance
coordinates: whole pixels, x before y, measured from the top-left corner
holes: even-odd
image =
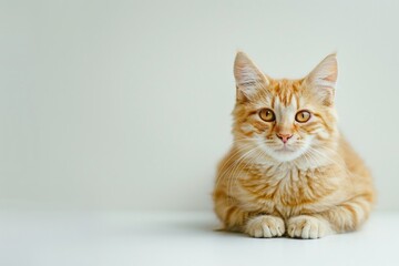
[[[317,156],[337,134],[334,106],[336,54],[298,80],[272,79],[238,52],[234,63],[236,145],[259,151],[277,162]],[[256,153],[254,152],[253,155]]]

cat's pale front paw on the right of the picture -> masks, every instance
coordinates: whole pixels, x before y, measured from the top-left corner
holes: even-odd
[[[304,239],[316,239],[332,233],[327,221],[308,215],[289,218],[287,227],[290,237]]]

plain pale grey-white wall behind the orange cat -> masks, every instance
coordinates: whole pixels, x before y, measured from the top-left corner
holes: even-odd
[[[1,0],[0,205],[211,209],[233,60],[338,51],[341,127],[399,211],[399,1]],[[184,198],[184,200],[182,200]]]

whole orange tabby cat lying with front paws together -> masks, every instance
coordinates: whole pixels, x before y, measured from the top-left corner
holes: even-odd
[[[357,229],[375,192],[337,129],[336,55],[304,79],[275,80],[238,52],[234,75],[234,143],[213,194],[225,229],[299,238]]]

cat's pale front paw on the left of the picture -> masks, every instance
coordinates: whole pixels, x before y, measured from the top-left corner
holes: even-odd
[[[260,215],[249,219],[245,233],[253,237],[276,237],[285,232],[284,221],[272,215]]]

